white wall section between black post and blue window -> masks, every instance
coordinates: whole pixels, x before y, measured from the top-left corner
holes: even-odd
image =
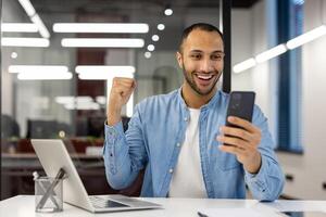
[[[271,8],[274,0],[259,1],[251,9],[233,9],[231,13],[231,65],[240,63],[275,46],[271,42],[269,30],[273,26],[267,17],[274,16]],[[272,44],[271,44],[272,43]],[[251,90],[256,92],[255,103],[269,119],[269,129],[276,141],[274,112],[276,72],[271,72],[271,62],[258,64],[240,74],[233,73],[233,90]],[[273,67],[272,67],[273,68]]]

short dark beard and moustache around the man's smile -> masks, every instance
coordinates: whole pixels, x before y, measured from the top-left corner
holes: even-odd
[[[185,79],[186,79],[187,84],[199,95],[208,95],[212,91],[214,91],[215,86],[216,86],[216,84],[220,80],[220,77],[222,75],[222,72],[218,72],[218,71],[211,71],[211,72],[196,72],[196,71],[192,71],[191,73],[189,73],[189,72],[186,71],[184,63],[183,63],[183,73],[184,73],[184,76],[185,76]],[[195,81],[195,77],[196,77],[196,74],[199,74],[199,73],[214,75],[214,77],[212,78],[214,80],[212,81],[212,86],[210,87],[210,89],[208,89],[208,90],[201,90],[198,87],[198,85]]]

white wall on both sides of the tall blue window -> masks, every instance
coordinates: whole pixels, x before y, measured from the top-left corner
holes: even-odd
[[[305,0],[304,31],[326,23],[326,0]],[[250,10],[233,11],[233,65],[247,60],[271,46],[273,40],[273,22],[269,0],[260,1]],[[323,11],[322,11],[323,10]],[[323,14],[323,15],[322,15]],[[268,33],[269,31],[269,33]],[[298,199],[325,200],[326,190],[326,36],[302,47],[302,143],[303,155],[277,153],[283,169],[292,175],[294,180],[286,182],[284,194]],[[277,79],[275,61],[256,65],[241,74],[233,74],[233,89],[254,90],[256,103],[269,118],[269,127],[274,138],[275,99]],[[275,139],[275,141],[277,141]]]

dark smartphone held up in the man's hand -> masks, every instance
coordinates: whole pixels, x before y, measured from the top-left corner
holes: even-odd
[[[229,116],[236,116],[251,122],[254,98],[255,93],[252,91],[233,91],[227,106],[225,125],[239,128],[227,120]]]

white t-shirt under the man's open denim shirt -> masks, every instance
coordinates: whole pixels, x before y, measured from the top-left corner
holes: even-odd
[[[171,180],[170,197],[208,197],[199,153],[200,110],[189,108],[189,111],[190,119]]]

